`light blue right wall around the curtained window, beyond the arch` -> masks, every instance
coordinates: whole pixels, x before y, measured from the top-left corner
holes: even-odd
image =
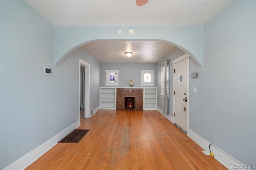
[[[172,61],[177,59],[178,57],[186,54],[184,51],[182,51],[179,48],[175,48],[173,51],[168,53],[164,59],[162,59],[158,65],[161,65],[164,61],[167,59],[170,59],[168,61],[169,65],[169,100],[168,100],[168,114],[173,115],[173,64]],[[157,67],[157,73],[156,73],[156,79],[157,79],[157,87],[158,87],[158,98],[157,98],[157,106],[160,109],[164,108],[164,98],[160,96],[161,93],[161,67]]]

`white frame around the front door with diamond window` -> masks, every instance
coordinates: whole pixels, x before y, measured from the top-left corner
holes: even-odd
[[[188,54],[184,54],[180,57],[178,57],[177,59],[175,59],[174,61],[172,61],[173,63],[173,69],[175,69],[175,64],[178,63],[179,61],[182,61],[183,59],[186,59],[187,58],[187,129],[186,129],[186,132],[188,132],[188,128],[189,128],[189,58],[190,56]],[[173,71],[173,91],[175,91],[175,73]],[[175,113],[175,95],[173,93],[173,120],[174,120],[174,123],[175,123],[175,116],[174,116],[174,113]],[[185,129],[184,129],[185,130]]]

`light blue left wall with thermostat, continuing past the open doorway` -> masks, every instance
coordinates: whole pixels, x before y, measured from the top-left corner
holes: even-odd
[[[78,58],[91,64],[91,107],[100,64],[82,49],[53,65],[54,26],[24,1],[0,1],[0,169],[78,121]],[[51,75],[43,72],[50,67]]]

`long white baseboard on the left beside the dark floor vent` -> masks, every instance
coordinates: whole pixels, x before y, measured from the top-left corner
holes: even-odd
[[[32,164],[35,160],[37,160],[40,156],[46,153],[50,148],[57,144],[62,138],[64,138],[67,134],[72,132],[75,128],[78,128],[80,125],[78,122],[70,125],[66,129],[62,130],[60,133],[56,134],[54,137],[50,138],[28,154],[22,156],[20,159],[16,160],[10,166],[5,168],[4,170],[23,170]]]

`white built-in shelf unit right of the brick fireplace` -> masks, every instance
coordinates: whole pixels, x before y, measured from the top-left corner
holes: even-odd
[[[143,110],[157,109],[157,87],[144,88]]]

